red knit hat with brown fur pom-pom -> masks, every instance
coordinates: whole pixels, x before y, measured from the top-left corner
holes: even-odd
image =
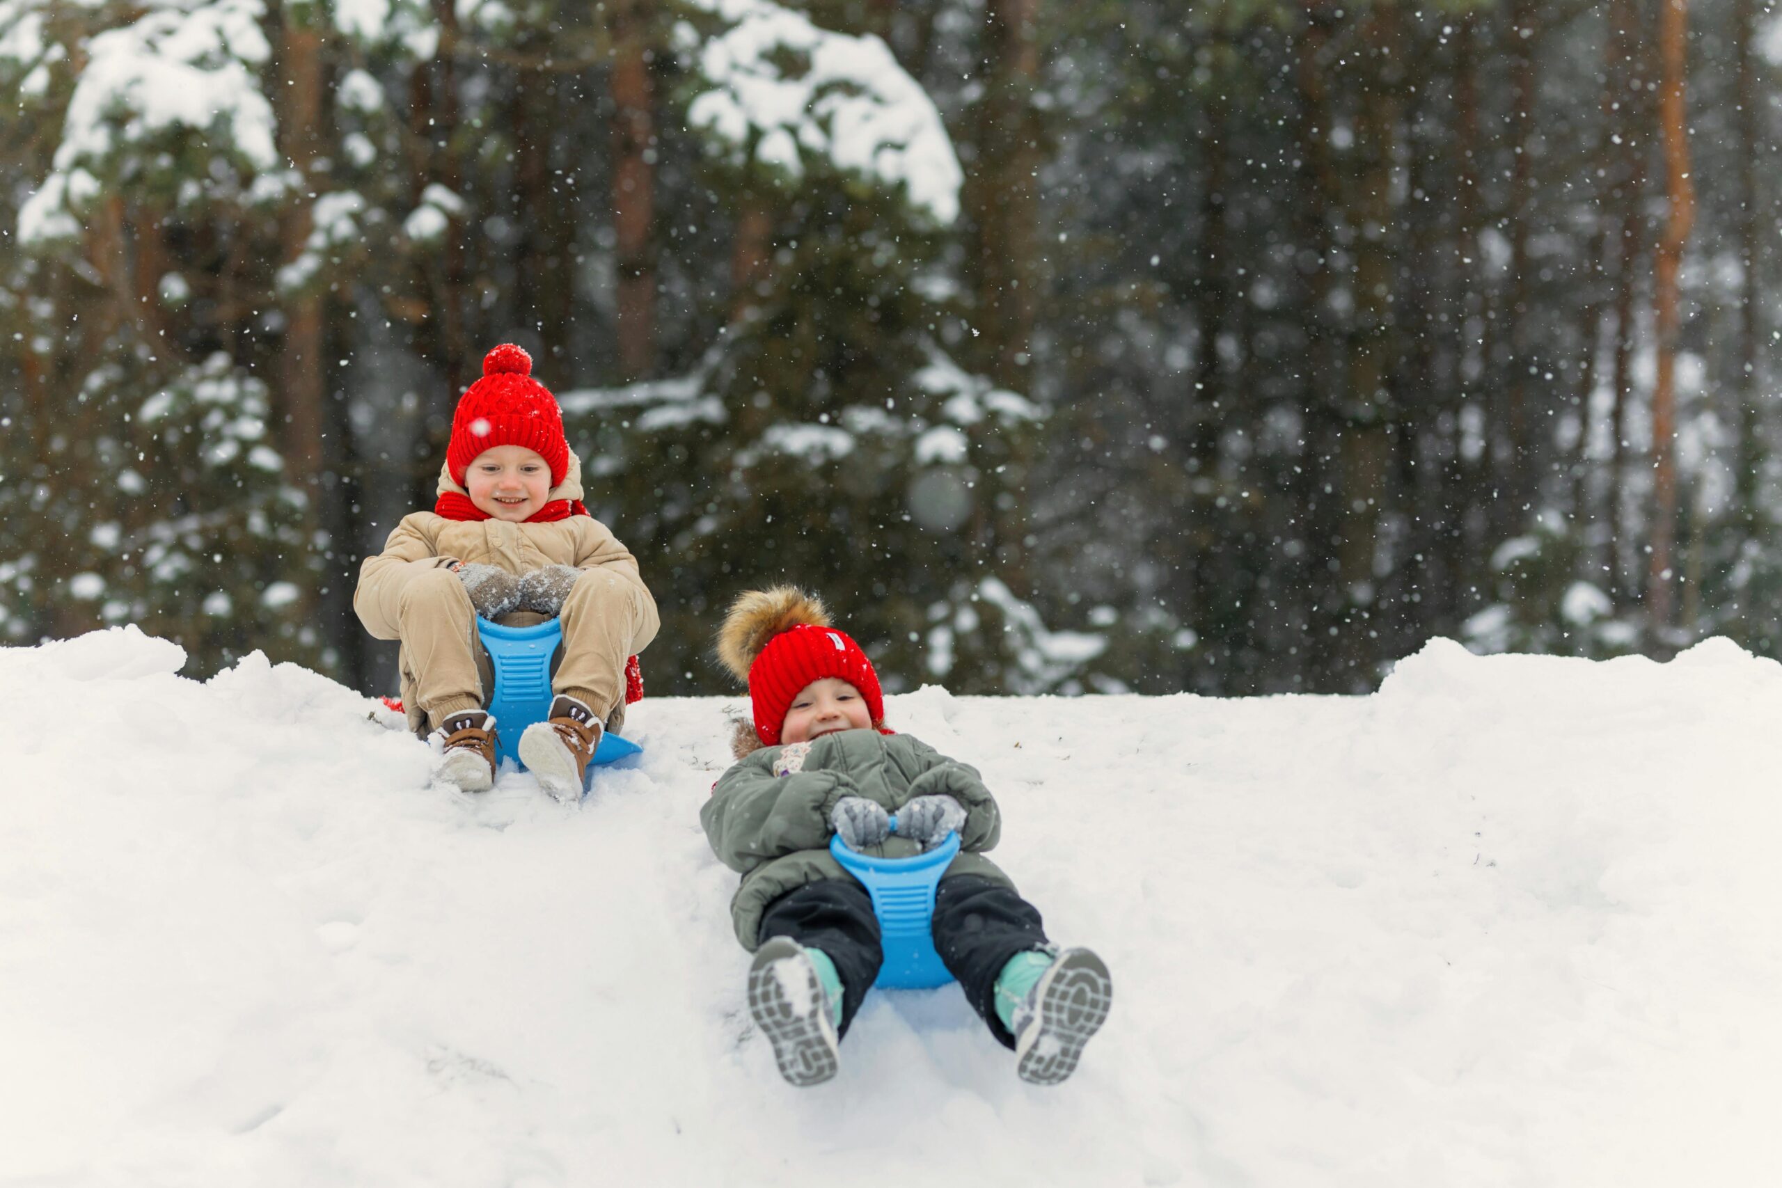
[[[786,711],[805,686],[836,677],[861,691],[870,721],[886,716],[879,673],[848,632],[829,625],[829,611],[793,586],[750,590],[740,597],[718,632],[718,657],[748,682],[756,736],[779,746]]]

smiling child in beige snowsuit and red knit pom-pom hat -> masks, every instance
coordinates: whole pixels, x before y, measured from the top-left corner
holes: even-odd
[[[627,657],[656,638],[656,600],[638,563],[581,504],[581,461],[531,356],[501,346],[458,401],[438,502],[390,533],[360,566],[353,609],[378,639],[401,639],[403,705],[444,739],[440,775],[483,791],[495,775],[495,720],[476,616],[560,618],[563,657],[547,721],[520,761],[558,798],[577,798],[601,732],[624,714]]]

